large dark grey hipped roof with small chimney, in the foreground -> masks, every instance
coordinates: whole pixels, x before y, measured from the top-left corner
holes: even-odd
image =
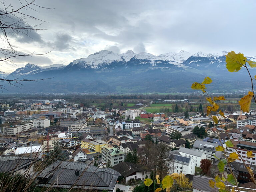
[[[79,171],[78,176],[75,174],[76,169]],[[51,178],[43,183],[41,179],[49,174],[52,174]],[[46,167],[39,175],[38,173],[34,174],[34,177],[40,178],[37,184],[40,187],[70,188],[75,184],[74,188],[107,191],[114,189],[119,176],[121,175],[117,171],[110,168],[101,169],[86,163],[68,161],[56,161]]]

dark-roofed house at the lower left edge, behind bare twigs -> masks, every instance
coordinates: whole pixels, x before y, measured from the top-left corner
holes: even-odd
[[[34,163],[39,160],[27,157],[2,156],[0,157],[0,173],[31,175],[34,173]]]

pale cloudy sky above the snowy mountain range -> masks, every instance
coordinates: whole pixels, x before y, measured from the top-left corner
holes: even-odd
[[[31,0],[29,0],[30,2]],[[24,2],[24,1],[21,1]],[[24,13],[43,21],[46,30],[15,34],[16,49],[48,54],[12,59],[0,71],[11,73],[27,63],[68,65],[100,50],[159,55],[185,50],[256,56],[254,0],[36,0]],[[19,0],[6,0],[14,8]],[[45,9],[47,7],[51,9]],[[0,4],[3,9],[3,5]],[[1,34],[2,36],[2,34]],[[2,45],[3,47],[3,45]]]

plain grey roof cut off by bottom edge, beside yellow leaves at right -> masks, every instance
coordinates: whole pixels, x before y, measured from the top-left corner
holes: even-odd
[[[215,186],[214,188],[211,188],[209,186],[209,180],[213,180],[215,182],[215,179],[213,179],[213,178],[208,178],[208,177],[204,177],[204,176],[196,176],[195,175],[193,177],[192,187],[194,189],[201,190],[201,191],[218,192],[219,191],[218,187]],[[228,186],[234,186],[231,183],[227,183],[227,182],[224,182],[224,184],[225,185],[228,184]]]

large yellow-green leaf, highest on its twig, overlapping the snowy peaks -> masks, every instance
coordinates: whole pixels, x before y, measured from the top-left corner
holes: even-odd
[[[245,64],[244,60],[247,60],[244,54],[231,51],[226,55],[226,68],[229,72],[237,72]]]

